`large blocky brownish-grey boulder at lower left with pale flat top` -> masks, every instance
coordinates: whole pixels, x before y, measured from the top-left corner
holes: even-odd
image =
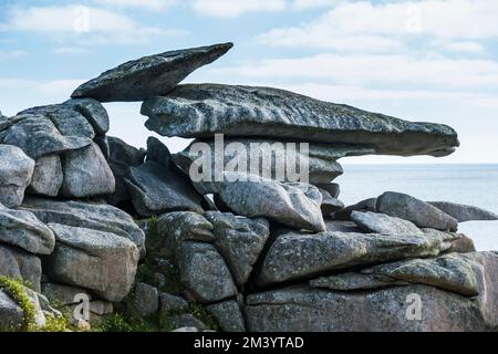
[[[49,258],[52,279],[94,291],[105,300],[122,301],[135,280],[138,249],[114,233],[49,223],[56,237]]]

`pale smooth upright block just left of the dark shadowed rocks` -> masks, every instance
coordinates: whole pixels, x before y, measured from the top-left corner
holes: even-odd
[[[112,194],[116,189],[113,171],[95,143],[66,153],[62,157],[62,166],[64,183],[60,194],[63,197],[94,197]]]

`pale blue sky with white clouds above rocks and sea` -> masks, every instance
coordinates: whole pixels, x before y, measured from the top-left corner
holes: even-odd
[[[185,82],[264,85],[453,126],[445,158],[349,163],[498,163],[496,0],[0,0],[0,110],[63,102],[128,60],[234,42]],[[141,103],[105,105],[110,134],[145,146]],[[162,138],[173,152],[188,142]]]

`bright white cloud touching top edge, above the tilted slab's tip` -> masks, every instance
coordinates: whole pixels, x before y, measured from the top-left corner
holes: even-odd
[[[286,0],[191,0],[193,9],[205,15],[235,18],[247,12],[282,11]]]

